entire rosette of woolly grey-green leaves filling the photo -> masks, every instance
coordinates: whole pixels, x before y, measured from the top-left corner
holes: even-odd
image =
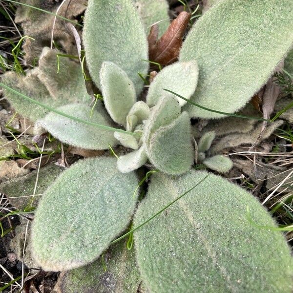
[[[45,191],[35,213],[31,237],[33,256],[43,270],[68,271],[103,262],[103,253],[129,227],[135,214],[134,227],[140,227],[134,232],[137,264],[150,292],[292,291],[290,251],[274,221],[244,189],[221,177],[189,170],[194,158],[189,117],[204,115],[193,112],[187,101],[163,90],[167,88],[193,101],[206,91],[203,95],[209,97],[207,103],[214,105],[217,97],[218,110],[226,112],[242,107],[266,81],[276,59],[279,61],[290,47],[290,5],[289,0],[284,4],[269,0],[221,1],[195,24],[179,62],[158,73],[144,102],[137,98],[143,88],[138,73],[144,75],[148,70],[142,61],[147,59],[147,42],[137,10],[131,0],[88,1],[83,32],[85,56],[104,105],[97,102],[91,118],[88,103],[66,102],[57,108],[67,116],[80,115],[78,118],[87,120],[92,128],[61,118],[54,111],[39,113],[38,117],[32,114],[31,119],[36,117],[42,128],[73,146],[105,149],[107,143],[120,143],[133,152],[117,162],[110,157],[80,160]],[[227,25],[219,27],[215,19]],[[269,23],[270,33],[262,25],[264,21]],[[231,27],[233,44],[228,42]],[[280,28],[284,34],[280,34]],[[246,33],[257,39],[256,48]],[[223,60],[218,62],[220,56]],[[218,64],[223,70],[215,70]],[[82,74],[81,70],[76,72]],[[235,79],[231,72],[236,72]],[[252,82],[248,72],[253,75]],[[196,87],[198,79],[200,88]],[[40,81],[50,94],[46,80]],[[233,94],[228,95],[234,87]],[[54,86],[51,91],[61,90],[66,97],[64,88]],[[27,91],[27,95],[30,93]],[[236,104],[236,98],[235,109],[227,107],[228,101]],[[209,113],[205,114],[207,118],[217,116],[204,113]],[[207,141],[199,142],[201,153],[209,149]],[[147,160],[160,172],[151,179],[146,197],[139,203],[139,192],[135,192],[138,178],[133,170]],[[123,247],[112,249],[118,251],[114,254],[120,259]],[[137,266],[133,258],[130,262],[131,267]],[[118,288],[124,288],[128,275],[112,272],[115,266],[109,267],[113,280],[120,282]],[[95,267],[86,272],[90,274],[86,280],[90,292],[95,290],[95,280],[101,272]],[[76,271],[69,279],[71,288],[84,288],[74,275]],[[77,286],[70,283],[74,279],[79,282]],[[133,280],[137,284],[140,278]],[[98,285],[102,291],[105,283]],[[70,286],[68,292],[72,290]]]

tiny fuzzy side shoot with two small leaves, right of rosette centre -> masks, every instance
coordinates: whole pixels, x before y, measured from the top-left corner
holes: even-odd
[[[201,163],[219,173],[227,173],[233,167],[233,162],[230,158],[223,155],[209,156],[209,148],[215,137],[215,132],[209,131],[200,138],[198,143],[194,140],[195,163]]]

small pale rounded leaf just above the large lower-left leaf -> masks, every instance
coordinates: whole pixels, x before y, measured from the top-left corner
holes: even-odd
[[[118,170],[122,173],[128,173],[142,167],[146,164],[147,155],[144,147],[132,151],[124,156],[120,156],[117,161]]]

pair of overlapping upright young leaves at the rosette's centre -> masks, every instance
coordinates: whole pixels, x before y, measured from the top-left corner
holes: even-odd
[[[175,97],[163,97],[152,109],[144,130],[144,147],[150,162],[172,175],[186,172],[192,165],[190,121],[181,113]]]

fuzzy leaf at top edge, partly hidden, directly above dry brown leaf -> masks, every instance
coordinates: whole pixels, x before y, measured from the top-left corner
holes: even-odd
[[[140,13],[146,33],[149,33],[150,27],[157,24],[159,27],[159,36],[162,36],[167,30],[170,17],[168,14],[169,5],[166,0],[133,0],[135,7]]]

